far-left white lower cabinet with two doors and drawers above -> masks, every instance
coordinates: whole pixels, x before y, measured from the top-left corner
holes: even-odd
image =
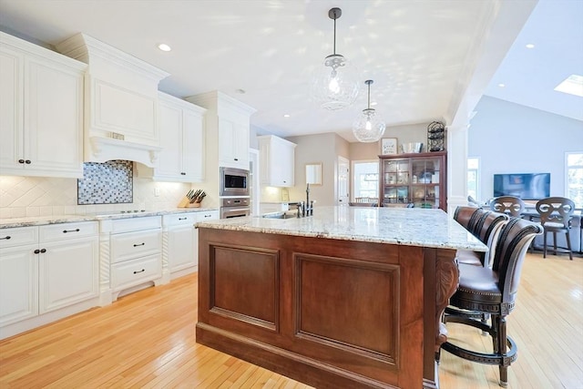
[[[97,305],[97,222],[0,230],[0,339]]]

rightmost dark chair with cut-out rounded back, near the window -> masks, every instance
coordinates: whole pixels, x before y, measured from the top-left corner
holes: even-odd
[[[575,202],[564,197],[548,197],[537,201],[537,212],[540,215],[540,224],[544,229],[543,235],[543,258],[547,258],[547,232],[553,233],[553,251],[568,253],[569,260],[573,261],[573,251],[571,250],[571,238],[569,235],[569,222],[575,212]],[[557,232],[565,232],[567,248],[557,248]]]

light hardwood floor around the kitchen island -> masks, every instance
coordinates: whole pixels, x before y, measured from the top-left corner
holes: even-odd
[[[189,275],[0,341],[0,388],[310,387],[196,343],[196,302]],[[448,330],[490,350],[477,330]],[[583,259],[529,254],[508,333],[510,388],[583,388]],[[443,389],[499,387],[497,367],[446,352],[439,376]]]

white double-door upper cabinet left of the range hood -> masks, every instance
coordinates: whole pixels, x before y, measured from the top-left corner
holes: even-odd
[[[86,67],[0,32],[0,174],[83,177]]]

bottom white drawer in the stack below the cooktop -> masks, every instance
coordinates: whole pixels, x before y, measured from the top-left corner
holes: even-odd
[[[113,292],[156,280],[162,275],[161,254],[153,254],[137,260],[111,265],[111,288]]]

